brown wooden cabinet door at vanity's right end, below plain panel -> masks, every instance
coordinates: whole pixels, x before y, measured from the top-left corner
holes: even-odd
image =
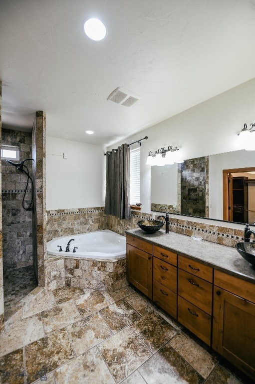
[[[255,379],[255,304],[217,286],[212,346]]]

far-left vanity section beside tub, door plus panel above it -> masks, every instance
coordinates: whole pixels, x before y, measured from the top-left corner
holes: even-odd
[[[152,299],[153,246],[127,235],[127,280]]]

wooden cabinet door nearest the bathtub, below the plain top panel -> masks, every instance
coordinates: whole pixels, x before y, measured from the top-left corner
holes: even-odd
[[[127,244],[127,280],[152,299],[152,255]]]

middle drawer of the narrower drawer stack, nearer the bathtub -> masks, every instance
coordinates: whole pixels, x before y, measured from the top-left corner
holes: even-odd
[[[177,268],[153,257],[153,279],[177,293]]]

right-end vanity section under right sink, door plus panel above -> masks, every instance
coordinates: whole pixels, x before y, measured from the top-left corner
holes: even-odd
[[[255,379],[255,284],[215,270],[212,346]]]

